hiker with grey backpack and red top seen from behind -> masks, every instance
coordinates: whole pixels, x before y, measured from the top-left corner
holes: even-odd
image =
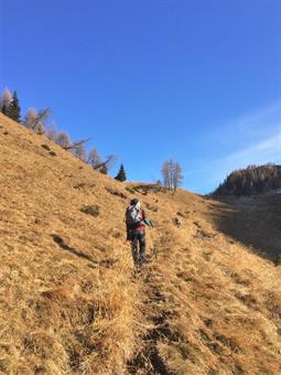
[[[133,199],[126,211],[127,240],[131,242],[134,266],[145,264],[145,225],[153,226],[141,208],[140,201]]]

